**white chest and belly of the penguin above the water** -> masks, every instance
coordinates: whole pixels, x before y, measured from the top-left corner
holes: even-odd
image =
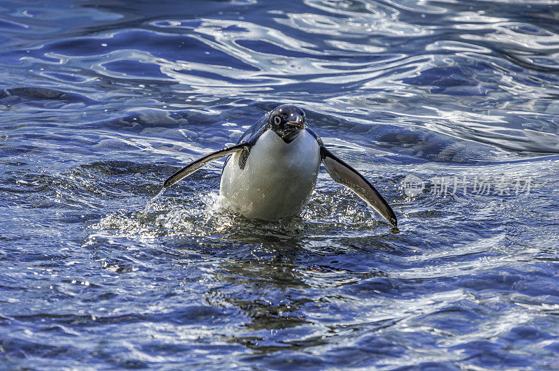
[[[223,170],[219,196],[226,208],[264,220],[292,217],[303,210],[321,161],[314,136],[304,130],[285,143],[267,130],[252,146],[243,169],[241,156],[242,152],[232,154]]]

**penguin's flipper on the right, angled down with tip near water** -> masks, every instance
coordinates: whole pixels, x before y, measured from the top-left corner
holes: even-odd
[[[398,220],[389,203],[379,194],[379,191],[372,187],[372,184],[363,177],[357,170],[347,163],[337,158],[332,152],[328,151],[324,144],[320,145],[320,157],[324,167],[335,182],[354,191],[357,196],[368,203],[373,209],[389,221],[393,226],[397,226]]]

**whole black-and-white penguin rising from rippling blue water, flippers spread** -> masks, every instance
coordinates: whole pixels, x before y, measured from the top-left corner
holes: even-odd
[[[219,196],[245,217],[275,220],[301,212],[317,182],[320,163],[333,180],[354,191],[394,227],[396,216],[372,184],[335,157],[307,126],[305,112],[279,106],[249,128],[236,145],[198,159],[168,177],[164,188],[210,161],[228,156]]]

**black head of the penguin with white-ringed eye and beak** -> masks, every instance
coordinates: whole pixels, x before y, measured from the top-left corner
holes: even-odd
[[[306,127],[305,112],[296,106],[284,104],[268,115],[268,124],[275,133],[291,143]]]

